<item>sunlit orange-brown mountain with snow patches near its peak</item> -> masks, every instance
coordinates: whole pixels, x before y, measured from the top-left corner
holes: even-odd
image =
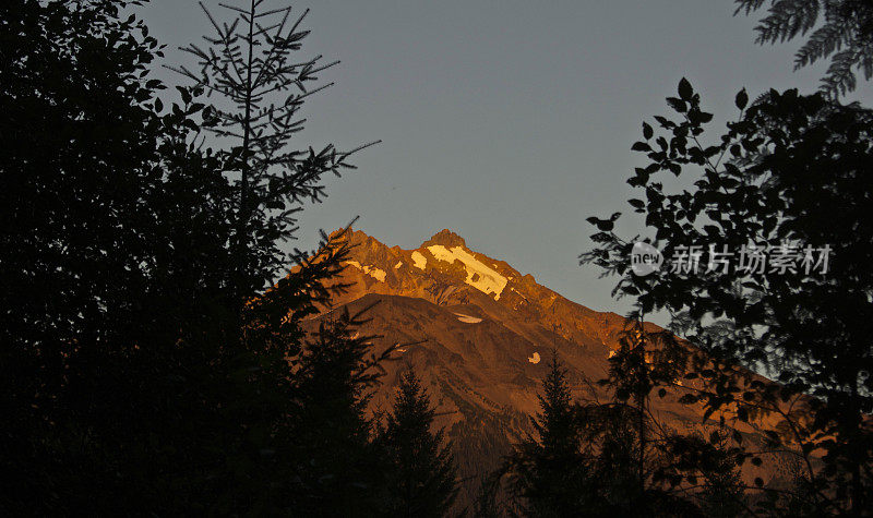
[[[347,239],[354,249],[339,280],[351,286],[334,308],[359,311],[378,302],[361,333],[381,335],[374,348],[400,345],[396,361],[385,365],[373,409],[391,408],[398,373],[411,365],[439,407],[439,425],[468,480],[462,501],[471,501],[479,477],[531,432],[527,415],[539,410],[537,394],[552,350],[578,398],[608,397],[595,383],[618,348],[622,316],[572,302],[475,252],[450,230],[415,250],[388,248],[361,231]],[[680,405],[680,396],[654,398],[656,415],[674,429],[703,430],[702,410]],[[775,474],[751,469],[744,478]]]

